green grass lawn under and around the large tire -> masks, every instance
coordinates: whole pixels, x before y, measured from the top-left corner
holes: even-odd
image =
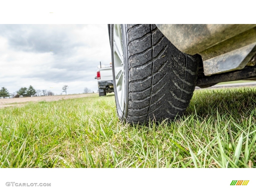
[[[256,89],[197,90],[172,122],[129,125],[114,96],[0,109],[0,167],[256,167]]]

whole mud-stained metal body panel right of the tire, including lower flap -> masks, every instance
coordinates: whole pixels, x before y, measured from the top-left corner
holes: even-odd
[[[256,24],[157,24],[162,33],[182,52],[199,54],[204,75],[255,65]]]

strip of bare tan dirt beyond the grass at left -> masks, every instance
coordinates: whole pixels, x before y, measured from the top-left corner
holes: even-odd
[[[72,98],[81,98],[88,97],[92,94],[76,94],[76,95],[54,95],[54,96],[41,96],[41,97],[20,97],[20,98],[5,98],[0,99],[0,108],[13,106],[13,105],[24,105],[27,102],[39,102],[39,101],[58,101],[61,99],[72,99]]]

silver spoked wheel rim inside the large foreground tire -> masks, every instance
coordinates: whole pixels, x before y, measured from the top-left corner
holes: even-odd
[[[118,103],[123,112],[124,106],[124,58],[121,25],[114,24],[113,27],[113,52],[114,52],[114,71],[115,84]]]

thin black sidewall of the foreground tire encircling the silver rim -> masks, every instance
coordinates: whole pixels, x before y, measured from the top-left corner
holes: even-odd
[[[113,73],[113,84],[114,84],[114,93],[115,93],[115,102],[118,117],[120,120],[125,120],[128,113],[128,93],[129,93],[129,80],[128,80],[128,50],[127,50],[127,37],[126,37],[126,25],[121,24],[121,33],[122,33],[122,46],[123,46],[123,66],[124,66],[124,106],[119,105],[119,99],[116,91],[116,82],[115,82],[115,63],[114,63],[114,46],[113,46],[113,27],[114,24],[110,25],[110,44],[111,44],[111,59],[112,59],[112,73]]]

